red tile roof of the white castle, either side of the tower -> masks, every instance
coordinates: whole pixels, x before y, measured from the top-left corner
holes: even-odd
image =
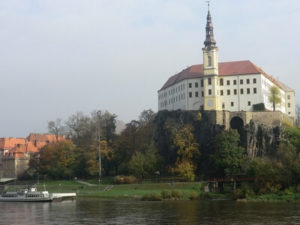
[[[275,80],[273,77],[265,73],[261,68],[259,68],[249,60],[219,63],[220,76],[247,75],[247,74],[263,74],[266,78],[271,80],[273,83],[275,83],[282,89],[285,89],[282,85],[280,85],[279,82],[277,82],[277,80]],[[200,78],[203,75],[204,75],[203,64],[193,65],[181,71],[180,73],[170,77],[160,90],[170,87],[182,80]]]

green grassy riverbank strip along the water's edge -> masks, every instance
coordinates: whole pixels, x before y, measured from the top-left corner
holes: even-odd
[[[19,189],[24,185],[9,185],[9,190]],[[228,193],[207,193],[203,191],[201,182],[171,182],[171,183],[141,183],[141,184],[97,184],[96,180],[58,180],[45,181],[38,185],[39,190],[50,193],[75,192],[78,197],[103,199],[183,199],[183,200],[235,200],[236,196]],[[254,195],[247,199],[237,199],[239,202],[300,202],[300,193],[281,192],[277,194]]]

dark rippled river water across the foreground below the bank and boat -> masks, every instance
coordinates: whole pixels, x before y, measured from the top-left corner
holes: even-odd
[[[77,199],[0,202],[0,224],[300,224],[298,203]]]

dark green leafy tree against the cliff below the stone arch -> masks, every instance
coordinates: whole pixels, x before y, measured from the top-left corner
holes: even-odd
[[[216,153],[213,157],[220,175],[232,177],[240,172],[244,149],[239,146],[239,140],[237,130],[226,130],[216,136]]]

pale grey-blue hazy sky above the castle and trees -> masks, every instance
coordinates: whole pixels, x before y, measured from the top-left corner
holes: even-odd
[[[251,60],[296,91],[300,1],[212,0],[219,61]],[[0,137],[108,110],[130,122],[202,63],[204,0],[1,0]]]

